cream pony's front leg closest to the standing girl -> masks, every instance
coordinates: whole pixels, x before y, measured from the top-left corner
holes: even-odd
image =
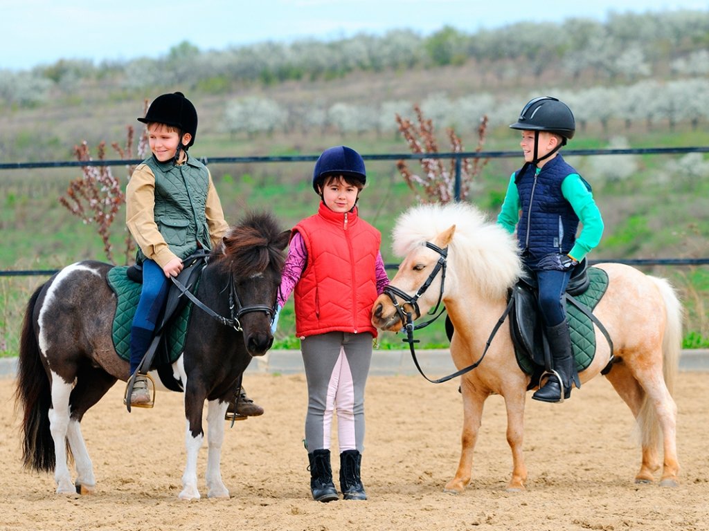
[[[483,415],[483,406],[487,394],[480,394],[467,379],[461,379],[463,395],[463,433],[461,435],[461,453],[458,469],[453,479],[443,488],[444,492],[462,493],[470,483],[473,468],[473,450],[478,439],[478,430]]]

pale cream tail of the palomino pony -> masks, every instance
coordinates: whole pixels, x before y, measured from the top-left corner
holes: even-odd
[[[662,375],[667,390],[673,394],[679,373],[679,355],[682,347],[682,304],[667,280],[653,276],[649,276],[649,278],[657,285],[657,289],[664,299],[665,330],[662,339]],[[659,447],[661,433],[657,420],[657,413],[646,393],[637,416],[637,427],[642,434],[643,445]]]

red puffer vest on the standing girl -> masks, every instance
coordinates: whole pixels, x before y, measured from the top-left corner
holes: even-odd
[[[333,212],[320,202],[316,215],[298,223],[308,264],[296,284],[296,335],[370,332],[376,300],[376,257],[381,234],[352,212]]]

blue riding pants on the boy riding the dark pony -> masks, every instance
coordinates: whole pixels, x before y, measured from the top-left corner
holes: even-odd
[[[138,308],[133,316],[133,326],[130,329],[130,374],[140,365],[147,348],[152,341],[157,318],[160,316],[165,299],[169,279],[160,265],[155,261],[143,262],[143,289],[140,291]]]

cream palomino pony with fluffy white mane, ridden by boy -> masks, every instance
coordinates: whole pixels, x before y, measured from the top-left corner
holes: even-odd
[[[442,256],[427,243],[447,250],[447,273],[443,287],[439,272],[421,293],[420,287]],[[414,304],[403,304],[406,311],[418,318],[442,296],[454,326],[450,345],[454,364],[462,369],[479,361],[491,331],[505,312],[508,290],[523,274],[515,238],[470,205],[419,205],[399,217],[393,231],[393,251],[404,258],[391,285],[409,300],[420,292],[418,312]],[[613,365],[605,377],[630,407],[641,435],[642,462],[635,482],[654,481],[661,467],[660,484],[676,486],[677,411],[671,389],[679,364],[681,304],[664,279],[618,263],[596,267],[608,273],[608,290],[593,311],[613,340]],[[374,302],[372,323],[382,330],[401,329],[402,319],[388,295],[380,295]],[[611,357],[608,341],[598,328],[594,330],[596,355],[579,374],[582,383],[599,375]],[[523,433],[528,384],[530,376],[518,366],[506,322],[493,337],[480,365],[461,377],[462,452],[445,491],[462,492],[470,481],[483,405],[491,394],[503,396],[507,411],[507,440],[513,459],[508,490],[525,488]],[[578,399],[579,392],[576,396]]]

